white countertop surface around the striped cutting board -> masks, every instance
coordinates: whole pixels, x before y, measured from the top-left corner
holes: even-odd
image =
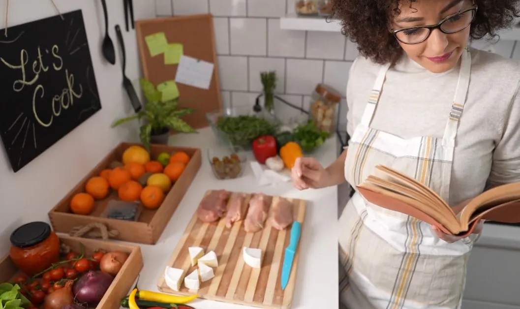
[[[300,239],[300,259],[292,308],[339,307],[337,263],[337,187],[320,190],[296,190],[290,182],[277,186],[258,187],[248,164],[242,177],[219,180],[213,176],[207,159],[207,149],[216,145],[211,128],[203,128],[198,134],[172,135],[170,145],[197,147],[202,150],[202,166],[186,192],[179,207],[154,246],[141,244],[144,267],[138,287],[141,290],[158,291],[159,280],[166,262],[183,235],[188,222],[208,189],[264,192],[268,195],[307,200],[305,221]],[[337,158],[336,137],[330,138],[315,153],[315,157],[327,166]],[[197,309],[246,308],[224,302],[196,300],[190,303]]]

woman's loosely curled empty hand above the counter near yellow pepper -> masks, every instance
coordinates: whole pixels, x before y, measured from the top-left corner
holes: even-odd
[[[297,158],[291,170],[291,179],[298,190],[327,187],[327,170],[315,158]]]

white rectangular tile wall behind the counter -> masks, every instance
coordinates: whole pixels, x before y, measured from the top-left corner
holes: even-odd
[[[345,126],[348,70],[358,51],[340,33],[280,29],[279,17],[294,13],[295,0],[155,0],[158,17],[204,14],[214,16],[220,87],[224,107],[252,106],[262,91],[260,72],[275,70],[277,93],[308,110],[317,83],[327,83],[342,94],[338,107]],[[473,42],[472,46],[520,61],[515,41]],[[301,115],[276,106],[284,119]]]

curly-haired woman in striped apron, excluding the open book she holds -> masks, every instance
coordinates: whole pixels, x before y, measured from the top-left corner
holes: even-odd
[[[324,169],[302,158],[298,189],[354,188],[383,164],[450,205],[520,181],[520,65],[469,47],[518,16],[516,0],[335,0],[360,57],[347,86],[348,149]],[[350,309],[460,308],[475,234],[459,238],[368,203],[339,220],[340,300]]]

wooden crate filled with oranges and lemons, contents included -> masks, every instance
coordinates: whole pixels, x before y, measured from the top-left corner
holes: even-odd
[[[50,210],[50,222],[59,233],[102,224],[113,239],[154,244],[201,157],[199,148],[121,143]]]

